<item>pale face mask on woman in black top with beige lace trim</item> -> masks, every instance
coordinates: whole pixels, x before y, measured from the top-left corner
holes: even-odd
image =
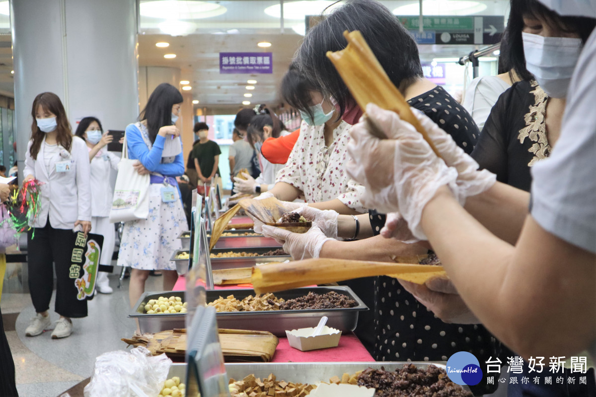
[[[552,98],[565,98],[582,52],[582,40],[522,33],[526,68]]]

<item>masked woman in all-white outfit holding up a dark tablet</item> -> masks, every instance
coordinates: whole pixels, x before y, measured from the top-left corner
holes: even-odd
[[[110,168],[118,170],[120,158],[105,148],[114,138],[109,131],[103,132],[101,122],[95,117],[83,117],[75,135],[85,140],[91,162],[91,228],[94,233],[104,236],[101,249],[101,265],[111,265],[116,232],[110,223],[110,208],[114,195],[110,183]],[[95,289],[100,293],[112,293],[108,273],[99,271]]]

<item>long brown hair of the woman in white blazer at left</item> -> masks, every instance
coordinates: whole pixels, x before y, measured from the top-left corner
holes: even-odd
[[[56,127],[56,142],[70,152],[73,133],[72,129],[70,129],[69,119],[66,117],[66,110],[64,110],[64,106],[62,105],[60,98],[58,98],[58,95],[53,92],[42,92],[33,99],[33,107],[31,108],[31,117],[33,117],[33,123],[31,124],[31,139],[33,140],[33,143],[29,149],[29,154],[34,160],[37,160],[39,149],[41,148],[41,144],[44,142],[46,135],[45,132],[39,129],[35,117],[37,109],[40,106],[45,111],[49,111],[56,116],[56,123],[58,124]]]

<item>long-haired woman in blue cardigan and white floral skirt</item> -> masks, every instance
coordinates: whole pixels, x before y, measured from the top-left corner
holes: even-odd
[[[175,155],[164,157],[163,153],[180,135],[174,124],[181,103],[181,93],[162,83],[151,93],[139,121],[126,127],[129,158],[139,160],[139,173],[151,174],[149,215],[146,220],[125,223],[118,255],[119,266],[132,268],[131,307],[144,292],[151,270],[163,272],[164,290],[171,290],[178,279],[170,257],[182,248],[176,236],[187,226],[176,182],[176,177],[184,174],[184,159],[181,145],[170,150]]]

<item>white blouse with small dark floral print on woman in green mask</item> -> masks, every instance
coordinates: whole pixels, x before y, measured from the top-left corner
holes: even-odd
[[[300,136],[285,167],[277,173],[275,182],[285,182],[302,190],[306,202],[339,199],[346,207],[364,214],[360,193],[364,186],[350,179],[346,173],[347,143],[350,124],[342,123],[333,131],[333,143],[325,146],[324,126],[300,124]]]

